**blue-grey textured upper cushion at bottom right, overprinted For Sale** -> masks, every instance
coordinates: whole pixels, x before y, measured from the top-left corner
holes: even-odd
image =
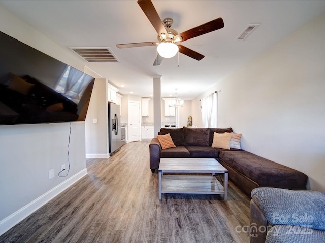
[[[325,230],[325,192],[255,188],[252,199],[273,225]]]

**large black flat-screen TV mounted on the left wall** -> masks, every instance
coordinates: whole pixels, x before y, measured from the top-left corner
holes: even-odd
[[[0,32],[0,125],[84,121],[94,78]]]

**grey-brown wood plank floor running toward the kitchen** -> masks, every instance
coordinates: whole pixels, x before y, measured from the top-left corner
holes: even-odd
[[[108,159],[87,159],[88,175],[28,216],[0,242],[249,242],[250,197],[229,183],[219,195],[165,194],[149,168],[149,141]]]

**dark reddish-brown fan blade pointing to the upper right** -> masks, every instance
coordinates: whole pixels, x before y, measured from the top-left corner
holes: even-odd
[[[206,33],[212,32],[214,30],[221,29],[223,27],[224,27],[224,23],[223,23],[222,18],[217,18],[217,19],[212,20],[208,23],[205,23],[205,24],[199,25],[197,27],[194,27],[192,29],[189,29],[187,31],[184,31],[184,32],[176,35],[174,37],[174,39],[181,36],[182,37],[181,42],[183,42],[183,41],[186,41],[186,39],[191,39],[191,38],[200,36],[202,34],[206,34]]]

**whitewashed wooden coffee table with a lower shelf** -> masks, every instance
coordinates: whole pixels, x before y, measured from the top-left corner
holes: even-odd
[[[220,174],[222,184],[216,179]],[[159,200],[166,193],[223,194],[228,200],[228,170],[214,158],[160,158],[158,176]]]

